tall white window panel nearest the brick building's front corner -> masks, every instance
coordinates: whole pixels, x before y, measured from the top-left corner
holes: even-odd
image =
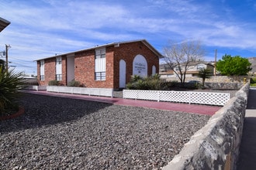
[[[106,49],[95,49],[95,80],[106,80]]]

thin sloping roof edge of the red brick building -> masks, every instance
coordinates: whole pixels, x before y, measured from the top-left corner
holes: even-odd
[[[59,55],[56,55],[56,56],[50,56],[50,57],[47,57],[47,58],[43,58],[43,59],[50,59],[50,58],[53,58],[53,57],[57,57],[57,56],[64,56],[64,55],[71,55],[71,54],[74,54],[74,53],[79,53],[79,52],[83,52],[83,51],[87,51],[87,50],[91,50],[91,49],[99,49],[99,48],[102,48],[102,47],[106,47],[106,46],[119,46],[120,44],[125,44],[125,43],[130,43],[130,42],[143,42],[145,46],[147,46],[147,48],[149,48],[151,51],[153,51],[153,53],[155,53],[156,56],[158,56],[159,58],[163,58],[164,56],[161,55],[161,53],[159,53],[157,51],[157,49],[155,49],[153,46],[150,45],[149,42],[147,42],[146,39],[139,39],[139,40],[133,40],[133,41],[123,41],[123,42],[111,42],[111,43],[106,43],[106,44],[103,44],[103,45],[97,45],[97,46],[94,46],[94,47],[91,47],[91,48],[88,48],[88,49],[81,49],[81,50],[78,50],[78,51],[74,51],[74,52],[71,52],[71,53],[63,53],[63,54],[59,54]],[[36,59],[36,61],[39,61],[39,60],[42,60],[42,59]]]

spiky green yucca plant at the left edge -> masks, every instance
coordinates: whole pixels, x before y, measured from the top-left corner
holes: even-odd
[[[7,110],[18,108],[16,99],[20,96],[19,90],[23,88],[22,73],[14,70],[5,70],[0,66],[0,113],[4,115]]]

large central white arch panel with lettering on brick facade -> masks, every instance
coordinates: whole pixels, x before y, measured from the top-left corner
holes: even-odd
[[[140,54],[133,59],[133,75],[147,76],[147,60]]]

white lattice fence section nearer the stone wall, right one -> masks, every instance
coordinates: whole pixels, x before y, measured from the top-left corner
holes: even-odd
[[[230,93],[123,90],[123,98],[223,106],[230,100]]]

